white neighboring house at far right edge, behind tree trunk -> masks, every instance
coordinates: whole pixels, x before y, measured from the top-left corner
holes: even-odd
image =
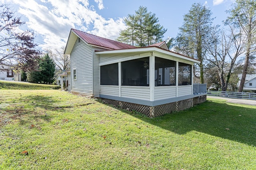
[[[238,86],[240,85],[240,81],[242,78],[242,74],[238,75]],[[256,93],[256,74],[246,74],[243,92],[254,92]]]

